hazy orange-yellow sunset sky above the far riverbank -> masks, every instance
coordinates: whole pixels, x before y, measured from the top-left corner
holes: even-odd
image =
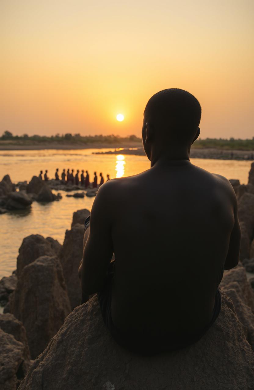
[[[0,15],[0,133],[140,135],[149,97],[177,87],[202,138],[254,136],[253,0],[2,0]]]

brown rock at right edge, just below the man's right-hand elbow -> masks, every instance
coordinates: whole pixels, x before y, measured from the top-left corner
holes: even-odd
[[[254,350],[254,293],[243,267],[226,271],[220,287],[234,303],[240,322],[247,328],[247,340]]]

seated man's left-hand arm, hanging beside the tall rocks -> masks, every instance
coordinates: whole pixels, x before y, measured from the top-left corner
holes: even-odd
[[[81,269],[83,294],[97,293],[105,283],[107,268],[114,252],[111,237],[111,195],[104,184],[98,190],[90,216],[88,238],[84,245]],[[84,240],[85,241],[85,240]]]

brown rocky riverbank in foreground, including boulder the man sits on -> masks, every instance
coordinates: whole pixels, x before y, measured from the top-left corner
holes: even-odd
[[[20,383],[20,390],[252,389],[254,163],[247,185],[231,184],[239,205],[241,262],[224,272],[215,324],[199,342],[174,353],[142,357],[124,350],[107,332],[97,298],[79,305],[77,269],[89,210],[73,214],[63,245],[39,234],[24,238],[16,271],[0,280],[1,389],[16,390]]]

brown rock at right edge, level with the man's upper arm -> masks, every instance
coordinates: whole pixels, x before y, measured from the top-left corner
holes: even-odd
[[[253,238],[254,228],[254,195],[244,193],[238,202],[238,217],[240,222],[245,223],[249,239]]]

